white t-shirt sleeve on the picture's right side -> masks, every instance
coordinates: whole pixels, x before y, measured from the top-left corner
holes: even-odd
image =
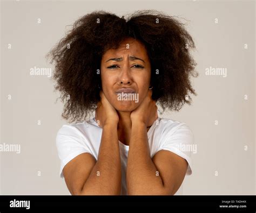
[[[186,175],[191,175],[193,167],[191,154],[196,151],[194,149],[196,146],[194,146],[194,136],[190,127],[180,123],[170,131],[166,131],[162,141],[159,150],[167,150],[184,158],[188,163]]]

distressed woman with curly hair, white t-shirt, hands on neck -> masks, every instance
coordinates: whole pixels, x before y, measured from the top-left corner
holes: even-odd
[[[173,195],[191,174],[185,123],[159,118],[196,95],[183,24],[157,11],[126,19],[96,11],[77,20],[50,52],[63,125],[56,145],[72,195]],[[95,111],[95,117],[87,119]]]

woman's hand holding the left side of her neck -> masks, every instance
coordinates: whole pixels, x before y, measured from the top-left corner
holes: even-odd
[[[107,101],[102,90],[100,90],[99,96],[100,101],[97,103],[95,110],[95,119],[98,125],[103,128],[104,125],[109,123],[118,124],[119,117],[116,109]]]

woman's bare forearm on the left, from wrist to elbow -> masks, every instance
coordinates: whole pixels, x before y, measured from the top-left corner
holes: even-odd
[[[117,123],[103,126],[98,159],[82,189],[82,195],[119,195],[121,162]]]

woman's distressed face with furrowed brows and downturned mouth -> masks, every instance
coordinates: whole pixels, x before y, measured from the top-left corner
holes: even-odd
[[[117,111],[133,111],[142,103],[150,86],[151,66],[140,41],[128,38],[118,49],[106,51],[100,70],[103,93]]]

